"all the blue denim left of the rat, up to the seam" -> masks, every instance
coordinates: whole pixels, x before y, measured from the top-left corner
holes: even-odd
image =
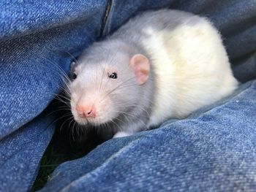
[[[53,135],[61,70],[99,36],[106,1],[1,1],[0,191],[28,191]],[[37,118],[38,117],[38,118]]]

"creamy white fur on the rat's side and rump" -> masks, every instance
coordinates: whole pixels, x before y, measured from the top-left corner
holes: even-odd
[[[205,18],[173,30],[145,28],[157,85],[149,126],[189,113],[232,93],[238,85],[218,31]]]

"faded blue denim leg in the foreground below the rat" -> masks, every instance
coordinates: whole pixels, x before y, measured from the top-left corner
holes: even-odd
[[[253,191],[256,81],[186,120],[111,139],[59,166],[42,191]]]

